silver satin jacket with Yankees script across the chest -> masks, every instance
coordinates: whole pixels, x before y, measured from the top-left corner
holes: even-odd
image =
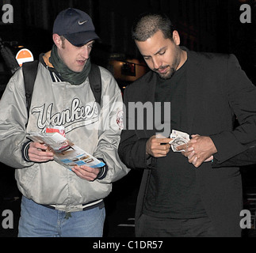
[[[21,68],[11,77],[0,100],[0,161],[16,168],[17,186],[26,198],[54,205],[57,210],[78,211],[102,202],[112,183],[128,173],[117,154],[122,96],[113,76],[102,67],[100,71],[102,92],[98,110],[88,77],[81,85],[61,81],[48,66],[47,57],[40,57],[29,122]],[[71,142],[105,160],[105,178],[88,182],[55,161],[25,161],[21,149],[28,142],[27,136],[30,132],[44,132],[48,125],[64,126]]]

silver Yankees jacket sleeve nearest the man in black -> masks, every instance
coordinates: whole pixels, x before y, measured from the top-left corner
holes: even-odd
[[[101,183],[115,182],[129,172],[129,168],[122,163],[117,153],[122,128],[122,95],[113,78],[109,85],[116,88],[113,96],[103,96],[101,126],[98,130],[97,150],[94,152],[94,157],[103,159],[108,168],[105,178],[99,180]]]

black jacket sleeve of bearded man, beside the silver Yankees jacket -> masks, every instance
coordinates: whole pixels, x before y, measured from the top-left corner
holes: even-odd
[[[122,130],[118,148],[120,159],[123,160],[124,164],[129,168],[155,168],[156,158],[146,155],[146,143],[148,138],[138,138],[136,130],[128,127],[129,123],[135,120],[134,117],[129,117],[128,92],[129,87],[127,87],[124,92],[125,127],[124,130]],[[136,124],[133,125],[136,126]]]

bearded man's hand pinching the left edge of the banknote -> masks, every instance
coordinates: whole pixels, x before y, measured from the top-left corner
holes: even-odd
[[[152,136],[146,144],[146,153],[152,157],[166,157],[170,152],[171,138],[160,138],[159,136]]]

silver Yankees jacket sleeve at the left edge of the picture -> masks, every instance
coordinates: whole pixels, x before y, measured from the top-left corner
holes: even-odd
[[[0,100],[0,161],[13,168],[25,168],[33,163],[26,162],[22,146],[28,142],[25,130],[27,108],[21,69],[10,78]]]

